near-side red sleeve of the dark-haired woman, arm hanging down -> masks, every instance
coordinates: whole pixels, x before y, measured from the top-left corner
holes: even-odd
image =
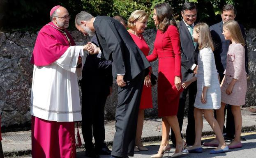
[[[180,34],[176,26],[171,25],[167,29],[168,36],[171,38],[173,53],[175,58],[175,76],[181,77],[181,60],[180,60]]]

